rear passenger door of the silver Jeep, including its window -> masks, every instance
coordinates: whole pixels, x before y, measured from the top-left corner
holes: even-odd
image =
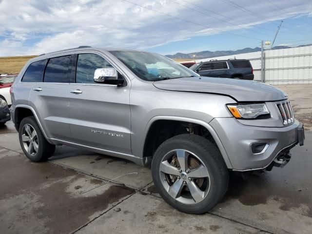
[[[60,56],[46,60],[43,80],[33,85],[29,104],[46,131],[47,137],[68,140],[68,93],[72,56]]]

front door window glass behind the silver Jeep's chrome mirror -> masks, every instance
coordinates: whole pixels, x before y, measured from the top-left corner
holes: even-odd
[[[76,83],[95,83],[94,72],[98,68],[113,67],[106,59],[96,54],[79,54],[77,59]]]

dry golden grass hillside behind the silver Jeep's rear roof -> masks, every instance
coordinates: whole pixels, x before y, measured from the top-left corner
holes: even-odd
[[[0,57],[0,74],[19,73],[25,63],[34,57],[36,56]]]

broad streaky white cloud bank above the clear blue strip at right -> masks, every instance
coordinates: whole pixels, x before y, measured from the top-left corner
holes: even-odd
[[[192,1],[196,5],[233,18],[229,20],[185,0],[175,1],[197,11],[171,0],[129,1],[186,21],[124,0],[0,1],[1,12],[12,12],[12,9],[15,9],[13,14],[0,15],[0,56],[42,54],[79,45],[146,49],[172,41],[217,34],[220,31],[250,28],[269,20],[308,14],[312,11],[309,0],[298,0],[296,5],[290,1],[283,1],[280,5],[285,10],[284,13],[260,1],[253,1],[253,4],[248,6],[245,0],[235,1],[236,4],[244,5],[265,16],[261,19],[224,2],[215,4],[215,0]],[[244,32],[241,32],[242,35]]]

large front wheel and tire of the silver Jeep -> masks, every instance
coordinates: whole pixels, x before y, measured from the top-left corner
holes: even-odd
[[[176,160],[179,162],[178,155],[188,158],[185,172],[178,171],[182,170],[182,164],[172,165]],[[199,169],[203,173],[198,173]],[[172,175],[180,176],[176,176],[175,180]],[[189,214],[202,214],[211,210],[223,198],[229,185],[229,172],[218,148],[206,138],[191,134],[172,137],[157,148],[152,160],[152,176],[161,197],[178,211]],[[173,186],[178,188],[180,183],[182,189],[176,195],[177,190]]]

